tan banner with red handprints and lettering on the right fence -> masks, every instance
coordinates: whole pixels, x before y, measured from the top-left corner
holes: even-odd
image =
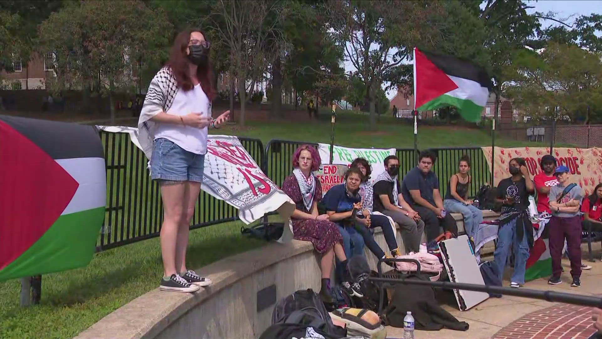
[[[481,147],[487,164],[491,169],[491,147]],[[529,174],[533,178],[541,172],[539,162],[545,154],[550,154],[549,147],[495,147],[494,185],[501,179],[510,176],[508,163],[510,159],[522,157],[527,163]],[[571,171],[571,182],[576,183],[584,194],[591,194],[598,183],[602,182],[602,148],[553,148],[552,155],[557,165],[565,165]]]

